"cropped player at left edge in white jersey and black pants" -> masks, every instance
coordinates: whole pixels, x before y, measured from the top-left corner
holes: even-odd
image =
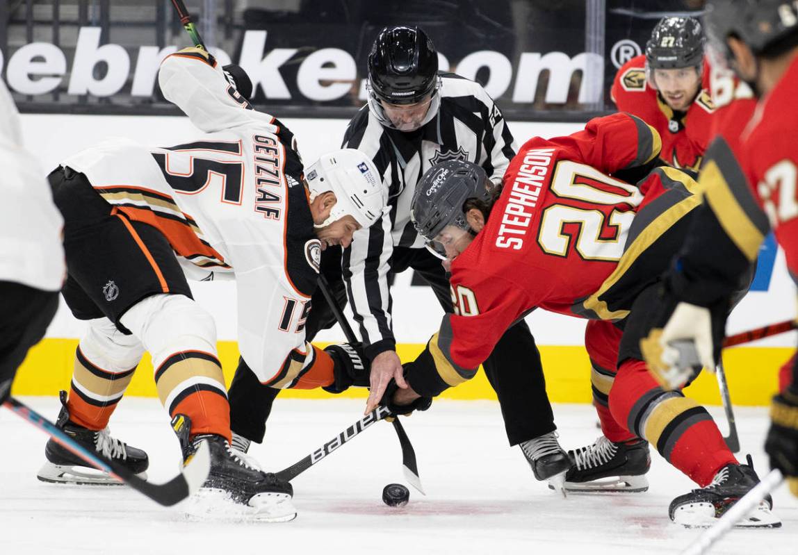
[[[28,349],[41,340],[64,282],[63,220],[38,162],[22,145],[19,114],[0,80],[0,404]]]

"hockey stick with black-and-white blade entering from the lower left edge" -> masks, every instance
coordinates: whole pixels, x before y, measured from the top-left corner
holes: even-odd
[[[146,480],[139,478],[133,474],[131,470],[115,462],[107,459],[100,453],[89,451],[80,443],[66,435],[61,428],[45,419],[34,409],[28,407],[26,404],[9,397],[3,403],[3,406],[13,411],[14,414],[20,418],[27,420],[34,426],[38,427],[45,434],[52,437],[61,447],[69,449],[72,453],[88,462],[91,466],[99,470],[107,472],[120,482],[126,483],[134,490],[140,491],[152,501],[160,503],[164,506],[172,506],[176,503],[188,498],[189,495],[199,490],[205,483],[207,474],[211,471],[211,452],[208,450],[207,445],[203,442],[200,444],[199,449],[196,451],[191,461],[183,467],[183,470],[175,478],[163,484],[152,484]]]

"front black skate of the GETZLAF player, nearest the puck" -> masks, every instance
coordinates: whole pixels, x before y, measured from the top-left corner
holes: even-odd
[[[188,462],[202,442],[207,442],[211,452],[211,472],[200,493],[221,491],[239,506],[246,506],[247,516],[259,521],[286,522],[296,518],[291,502],[294,488],[275,474],[263,472],[254,459],[235,451],[221,435],[196,435],[189,439],[191,419],[176,415],[172,428],[180,439],[184,462]]]

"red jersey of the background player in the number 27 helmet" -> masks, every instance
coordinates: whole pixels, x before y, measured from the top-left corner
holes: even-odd
[[[642,54],[618,69],[610,97],[620,112],[638,116],[657,130],[662,138],[662,159],[671,166],[698,171],[711,139],[715,111],[709,72],[705,62],[698,96],[686,112],[674,112],[646,80],[646,56]]]

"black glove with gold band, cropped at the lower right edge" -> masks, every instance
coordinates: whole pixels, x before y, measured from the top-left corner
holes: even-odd
[[[764,451],[770,456],[770,467],[781,470],[790,491],[798,496],[798,394],[788,389],[774,396],[770,419]]]

